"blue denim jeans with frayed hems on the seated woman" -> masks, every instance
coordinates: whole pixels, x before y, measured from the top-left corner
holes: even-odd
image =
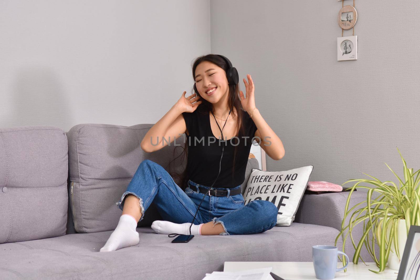
[[[216,176],[217,174],[215,174]],[[133,194],[139,200],[144,218],[144,212],[152,201],[162,218],[169,222],[192,222],[201,199],[205,196],[194,220],[194,225],[213,221],[213,225],[220,223],[225,230],[220,235],[262,233],[273,228],[277,222],[278,209],[275,204],[265,200],[254,200],[244,206],[242,194],[231,196],[230,191],[241,188],[213,187],[227,190],[226,196],[209,196],[198,192],[197,186],[210,189],[188,181],[188,187],[183,191],[173,181],[171,175],[159,164],[151,160],[143,160],[136,170],[127,190],[117,202],[119,209],[123,209],[124,197]]]

